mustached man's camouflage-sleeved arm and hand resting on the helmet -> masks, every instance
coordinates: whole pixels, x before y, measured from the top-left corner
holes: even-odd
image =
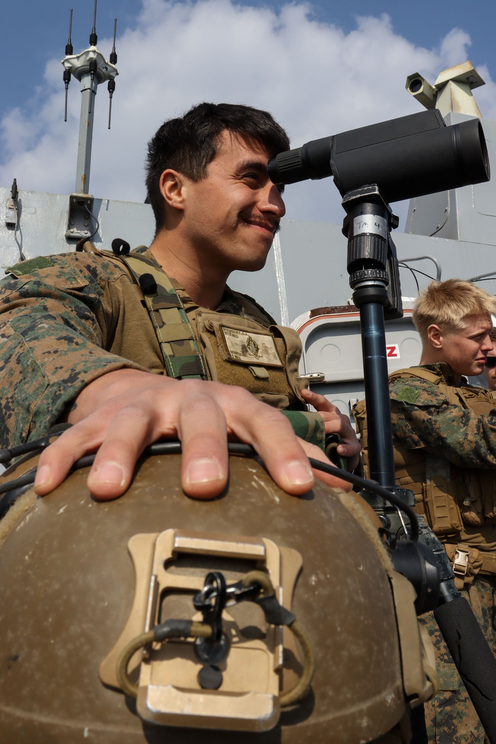
[[[48,493],[77,458],[101,445],[89,485],[98,498],[115,498],[129,484],[141,450],[160,436],[181,438],[184,489],[192,496],[222,491],[228,436],[252,444],[289,493],[312,487],[306,454],[326,458],[294,436],[280,411],[240,388],[155,375],[103,348],[112,336],[112,303],[104,296],[106,282],[115,280],[110,262],[71,254],[69,261],[52,257],[24,273],[30,269],[28,262],[16,266],[16,277],[1,283],[2,446],[45,434],[74,399],[68,421],[77,425],[42,455],[38,493]],[[117,464],[117,476],[103,464],[111,471]]]

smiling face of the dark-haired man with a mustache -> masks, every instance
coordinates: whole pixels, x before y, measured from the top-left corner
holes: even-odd
[[[184,238],[227,276],[262,269],[280,218],[280,192],[268,178],[265,148],[224,130],[207,176],[184,186]]]

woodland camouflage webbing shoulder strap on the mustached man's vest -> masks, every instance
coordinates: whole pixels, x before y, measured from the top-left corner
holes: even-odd
[[[138,286],[140,277],[144,274],[151,274],[157,283],[155,292],[143,296],[157,334],[167,374],[178,379],[207,379],[193,327],[170,278],[144,256],[128,254],[120,256],[120,260],[126,263]]]

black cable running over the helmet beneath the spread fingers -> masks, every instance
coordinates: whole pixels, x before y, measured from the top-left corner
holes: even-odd
[[[48,439],[48,437],[43,437],[42,440],[37,440],[36,442],[31,442],[28,444],[33,446],[33,450],[41,449],[40,442],[43,442],[44,446],[47,446],[45,444],[46,439]],[[27,445],[20,445],[20,447],[25,446]],[[6,450],[4,450],[4,452],[5,451]],[[12,450],[7,451],[12,452]],[[141,457],[148,457],[151,455],[180,455],[181,451],[181,442],[155,442],[154,444],[149,444],[149,446],[144,448],[143,452],[141,453]],[[260,464],[263,464],[260,455],[257,455],[257,452],[255,452],[253,447],[249,444],[230,442],[228,443],[228,451],[231,455],[245,455],[247,457],[254,458],[258,462],[260,462]],[[85,455],[84,457],[79,458],[79,460],[77,460],[71,467],[69,472],[74,472],[75,470],[79,470],[83,467],[89,467],[93,464],[95,457],[96,455]],[[359,475],[355,475],[352,472],[347,472],[347,470],[341,470],[341,468],[335,467],[334,465],[327,465],[326,463],[323,463],[320,460],[315,460],[314,458],[309,458],[309,463],[315,470],[326,472],[329,475],[335,475],[336,478],[341,478],[341,480],[348,481],[348,483],[352,484],[353,486],[358,486],[360,490],[367,490],[371,493],[375,493],[377,496],[385,498],[387,501],[390,502],[390,504],[393,504],[393,506],[404,511],[410,519],[410,538],[412,540],[419,539],[419,522],[417,521],[416,513],[411,507],[408,506],[408,504],[405,504],[405,501],[402,501],[402,498],[396,496],[396,494],[394,493],[391,493],[387,490],[387,488],[379,486],[379,484],[375,481],[367,481],[365,478],[360,478]],[[13,481],[8,481],[7,483],[1,484],[0,493],[7,493],[7,491],[13,490],[14,488],[19,488],[21,486],[34,483],[35,476],[36,469],[33,469]]]

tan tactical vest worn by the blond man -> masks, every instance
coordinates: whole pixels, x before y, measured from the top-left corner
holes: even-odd
[[[496,405],[496,395],[484,388],[445,385],[441,376],[419,368],[393,372],[396,379],[417,377],[437,385],[450,403],[488,414]],[[362,446],[365,475],[368,477],[367,411],[365,401],[353,407]],[[425,514],[428,524],[442,542],[470,542],[493,550],[496,525],[496,468],[460,468],[425,449],[406,449],[393,438],[396,484],[415,493],[416,511]],[[469,538],[467,538],[467,535]]]

